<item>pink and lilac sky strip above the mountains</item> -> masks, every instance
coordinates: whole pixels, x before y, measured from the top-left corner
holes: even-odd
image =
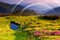
[[[10,4],[16,4],[21,0],[0,0],[2,2],[7,2]],[[60,0],[23,0],[22,3],[60,3]]]

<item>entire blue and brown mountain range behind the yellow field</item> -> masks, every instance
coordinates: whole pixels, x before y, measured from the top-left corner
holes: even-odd
[[[52,10],[50,8],[48,8],[47,6],[37,5],[37,6],[27,8],[27,10],[25,10],[22,14],[20,14],[20,11],[24,7],[29,5],[29,4],[21,4],[21,5],[17,5],[16,8],[13,10],[13,12],[10,13],[15,5],[16,4],[8,4],[8,3],[0,2],[0,15],[1,14],[11,14],[11,15],[37,15],[37,14],[38,15],[39,14],[52,15],[53,14],[53,15],[60,15],[60,7],[56,6],[57,4],[53,5],[54,7],[52,7],[52,5],[50,4],[50,6],[52,7]],[[46,10],[44,10],[44,9],[46,9]]]

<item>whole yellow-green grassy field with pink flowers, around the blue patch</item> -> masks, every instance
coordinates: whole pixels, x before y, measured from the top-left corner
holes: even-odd
[[[11,21],[20,24],[17,30],[10,29]],[[40,31],[42,37],[34,35],[35,31]],[[0,17],[0,40],[60,40],[60,34],[52,34],[53,31],[60,31],[60,19],[45,20],[38,16]]]

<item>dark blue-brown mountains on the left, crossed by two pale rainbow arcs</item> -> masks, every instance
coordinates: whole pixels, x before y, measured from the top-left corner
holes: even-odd
[[[0,2],[0,16],[4,15],[36,15],[36,13],[33,10],[25,10],[22,14],[20,14],[20,11],[25,7],[24,5],[17,5],[16,8],[13,10],[12,13],[11,10],[16,4],[8,4],[4,2]],[[28,4],[27,4],[28,5]]]

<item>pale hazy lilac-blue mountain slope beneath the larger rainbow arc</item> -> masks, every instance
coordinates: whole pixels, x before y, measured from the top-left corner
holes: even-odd
[[[22,5],[27,6],[29,4],[22,4]],[[30,6],[27,9],[34,10],[37,14],[45,14],[51,10],[53,11],[54,8],[59,6],[60,5],[58,5],[57,3],[48,3],[46,5],[39,4],[39,5]]]

